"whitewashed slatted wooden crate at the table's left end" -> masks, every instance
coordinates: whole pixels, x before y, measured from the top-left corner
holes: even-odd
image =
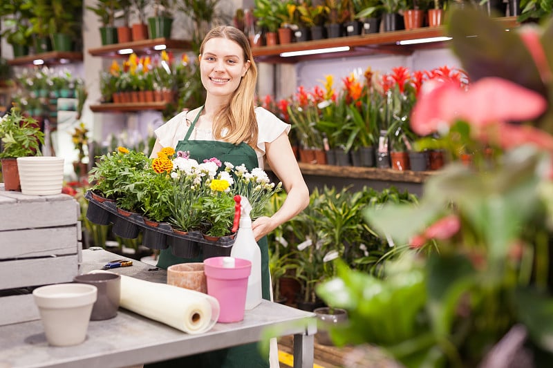
[[[23,195],[0,184],[0,325],[39,319],[30,291],[79,274],[79,212],[70,195]]]

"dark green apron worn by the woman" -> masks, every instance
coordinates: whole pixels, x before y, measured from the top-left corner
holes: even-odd
[[[216,157],[221,162],[230,162],[238,166],[244,164],[249,171],[259,166],[257,155],[254,149],[244,142],[241,144],[232,144],[228,142],[217,141],[201,141],[189,140],[189,137],[196,126],[198,117],[202,113],[203,107],[192,122],[185,136],[185,139],[179,141],[176,146],[176,151],[188,151],[190,158],[196,159],[198,162],[203,162],[204,159]],[[269,251],[267,245],[267,237],[263,237],[257,242],[261,249],[261,284],[263,289],[263,299],[270,300],[270,283],[269,283]],[[171,253],[171,249],[163,249],[160,251],[158,267],[167,269],[172,264],[187,263],[187,262],[203,262],[202,254],[198,258],[180,258]],[[207,353],[178,358],[166,362],[154,363],[145,367],[190,367],[190,368],[256,368],[269,367],[269,357],[262,357],[259,354],[257,344],[241,345],[231,347],[229,349],[221,349],[209,351]]]

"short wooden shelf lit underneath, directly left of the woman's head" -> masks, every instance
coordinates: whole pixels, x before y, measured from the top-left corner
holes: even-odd
[[[137,55],[147,55],[153,52],[160,52],[161,50],[156,50],[154,47],[158,45],[165,45],[165,50],[190,50],[191,43],[187,40],[182,39],[166,39],[166,38],[157,38],[157,39],[143,39],[141,41],[132,41],[124,43],[114,43],[113,45],[106,45],[100,48],[90,48],[88,53],[93,56],[101,57],[129,57],[129,54],[120,54],[119,50],[123,49],[132,49],[133,52]]]

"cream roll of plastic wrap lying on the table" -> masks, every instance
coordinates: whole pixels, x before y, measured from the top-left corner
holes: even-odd
[[[207,294],[124,275],[120,307],[190,334],[212,329],[220,310],[216,298]]]

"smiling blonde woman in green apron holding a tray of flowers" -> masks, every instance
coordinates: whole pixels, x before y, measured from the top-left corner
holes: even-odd
[[[183,112],[156,129],[152,157],[166,146],[189,151],[198,162],[216,157],[221,162],[245,166],[251,171],[264,167],[283,183],[288,193],[281,208],[271,217],[259,217],[252,224],[261,248],[263,298],[270,300],[268,247],[265,235],[301,212],[309,203],[309,192],[288,140],[290,125],[268,110],[254,108],[257,67],[247,38],[240,30],[220,26],[208,32],[200,46],[200,74],[207,91],[204,106]],[[161,251],[158,267],[167,268],[184,259]],[[182,367],[268,367],[256,344],[242,345],[189,357]],[[193,360],[192,360],[193,359]],[[167,367],[167,362],[163,362]]]

